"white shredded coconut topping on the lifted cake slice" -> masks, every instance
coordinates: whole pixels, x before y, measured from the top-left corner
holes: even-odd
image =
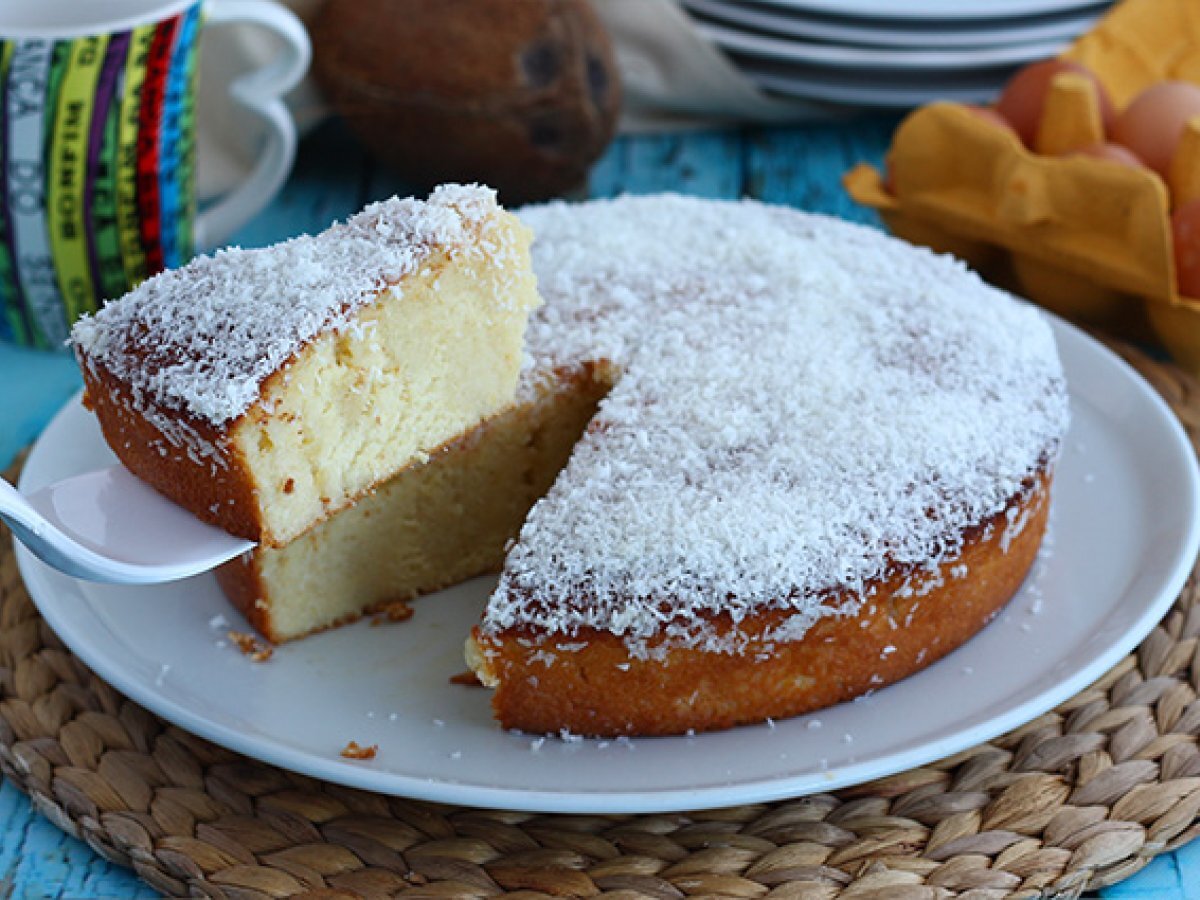
[[[497,209],[491,190],[448,185],[428,200],[372,204],[316,236],[217,251],[84,317],[71,342],[85,362],[126,382],[142,412],[157,406],[220,426],[245,413],[305,343],[353,326],[355,313],[436,250],[504,264],[491,228]]]

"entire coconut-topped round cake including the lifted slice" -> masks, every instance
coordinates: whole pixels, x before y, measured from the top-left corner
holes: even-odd
[[[1013,596],[1068,419],[1032,307],[761,203],[520,217],[532,256],[486,191],[390,200],[76,328],[134,470],[288,526],[218,576],[265,636],[499,570],[467,656],[500,724],[661,734],[883,686]]]

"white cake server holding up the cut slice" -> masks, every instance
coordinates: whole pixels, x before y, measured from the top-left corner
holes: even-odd
[[[202,522],[124,466],[67,478],[28,497],[0,479],[0,518],[42,562],[112,584],[178,581],[254,546]]]

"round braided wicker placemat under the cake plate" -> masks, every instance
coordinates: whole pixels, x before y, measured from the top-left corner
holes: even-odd
[[[1195,444],[1200,385],[1117,349]],[[1070,898],[1200,834],[1195,571],[1104,678],[952,758],[788,802],[563,816],[337,787],[168,725],[62,646],[2,536],[4,773],[170,896]]]

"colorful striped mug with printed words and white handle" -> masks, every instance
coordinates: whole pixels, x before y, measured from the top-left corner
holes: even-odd
[[[268,138],[247,179],[197,214],[199,34],[226,23],[270,29],[283,49],[229,85]],[[0,338],[60,347],[80,314],[258,212],[292,167],[281,96],[310,55],[304,25],[269,0],[2,0]]]

